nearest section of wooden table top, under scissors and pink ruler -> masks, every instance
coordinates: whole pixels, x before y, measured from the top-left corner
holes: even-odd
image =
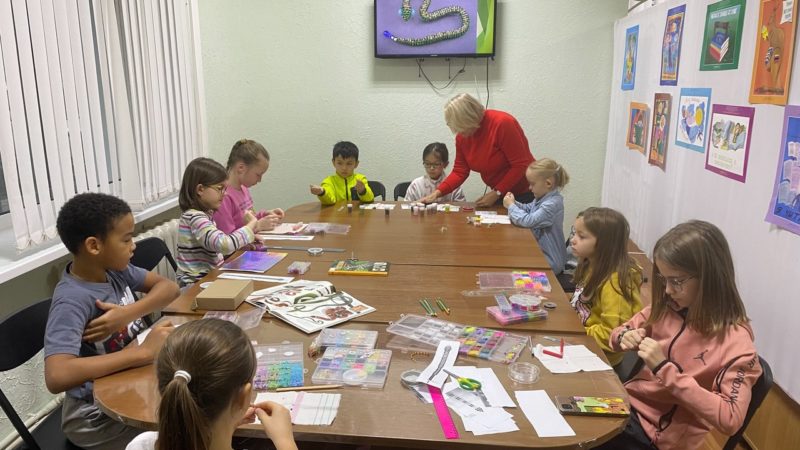
[[[188,316],[187,316],[188,317]],[[195,316],[196,317],[196,316]],[[174,318],[174,320],[180,320]],[[390,334],[385,325],[354,323],[347,328],[372,329],[380,332],[378,348],[385,348]],[[248,331],[251,339],[261,344],[284,340],[303,342],[308,347],[310,336],[278,321],[262,321],[259,327]],[[572,343],[586,345],[600,355],[602,351],[592,338],[569,335]],[[547,343],[547,341],[534,342]],[[521,361],[531,361],[530,349],[526,349]],[[625,419],[567,416],[567,422],[575,430],[574,437],[539,438],[531,423],[519,408],[507,408],[514,415],[519,431],[486,436],[474,436],[464,431],[463,423],[453,413],[460,438],[448,441],[435,417],[432,405],[423,404],[400,384],[400,373],[408,369],[422,369],[427,360],[412,361],[409,354],[393,352],[386,385],[382,390],[342,388],[342,400],[336,420],[326,426],[294,426],[297,440],[316,442],[344,442],[406,446],[415,448],[578,448],[599,445],[616,435],[625,425]],[[605,359],[605,358],[604,358]],[[306,356],[306,384],[311,384],[311,375],[316,365]],[[539,365],[538,362],[535,364]],[[541,368],[541,379],[535,384],[514,383],[507,376],[507,366],[471,357],[460,357],[457,365],[492,367],[512,399],[513,391],[545,389],[555,395],[605,395],[626,397],[625,389],[613,371],[550,374]],[[95,380],[94,395],[97,404],[109,416],[139,428],[155,429],[156,407],[159,402],[157,382],[153,365],[126,370]],[[260,427],[245,425],[237,435],[264,437]]]

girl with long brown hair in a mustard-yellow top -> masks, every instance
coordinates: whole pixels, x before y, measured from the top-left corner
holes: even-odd
[[[571,305],[612,366],[624,355],[608,344],[611,331],[642,309],[642,268],[628,255],[629,234],[618,211],[589,208],[575,219],[570,241],[578,258]]]

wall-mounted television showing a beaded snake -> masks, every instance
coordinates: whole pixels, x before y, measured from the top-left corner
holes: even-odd
[[[497,0],[375,0],[375,57],[494,56]]]

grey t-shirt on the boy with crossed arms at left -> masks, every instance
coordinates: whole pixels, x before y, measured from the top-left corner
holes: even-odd
[[[82,337],[86,325],[104,313],[95,305],[95,300],[117,305],[133,303],[136,301],[133,292],[142,290],[147,271],[128,264],[121,272],[107,270],[105,283],[92,283],[72,276],[71,267],[72,263],[64,269],[61,281],[53,292],[44,335],[45,358],[59,353],[86,357],[116,352],[147,328],[144,320],[139,318],[103,341],[84,342]],[[93,402],[92,386],[92,382],[88,381],[70,389],[67,395]]]

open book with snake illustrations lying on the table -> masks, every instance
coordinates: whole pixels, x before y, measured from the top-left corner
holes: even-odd
[[[270,314],[313,333],[375,311],[327,281],[298,280],[253,292],[247,301],[266,306]]]

